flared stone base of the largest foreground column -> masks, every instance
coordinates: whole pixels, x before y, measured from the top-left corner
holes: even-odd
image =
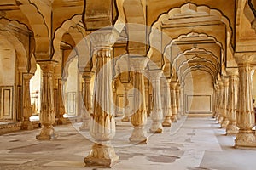
[[[119,160],[111,144],[93,144],[89,156],[84,158],[86,167],[113,167]]]

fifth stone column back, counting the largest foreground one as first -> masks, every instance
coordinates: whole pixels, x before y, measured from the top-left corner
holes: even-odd
[[[172,122],[177,122],[177,99],[176,99],[176,85],[177,82],[170,83],[171,90],[171,106],[172,106]]]

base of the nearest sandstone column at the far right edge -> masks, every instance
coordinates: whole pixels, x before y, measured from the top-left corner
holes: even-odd
[[[239,130],[236,134],[235,148],[255,148],[256,147],[256,135],[252,130]]]

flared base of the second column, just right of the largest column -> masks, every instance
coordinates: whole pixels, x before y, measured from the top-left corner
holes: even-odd
[[[144,127],[134,127],[131,137],[129,138],[131,143],[134,144],[147,144],[148,137],[146,137],[143,130]]]

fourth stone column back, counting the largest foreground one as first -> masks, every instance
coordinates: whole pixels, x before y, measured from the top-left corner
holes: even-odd
[[[163,115],[164,115],[164,121],[162,123],[163,127],[171,127],[172,126],[172,107],[171,107],[171,94],[170,94],[170,82],[171,79],[167,79],[164,77],[163,83],[164,83],[164,102],[163,104]]]

